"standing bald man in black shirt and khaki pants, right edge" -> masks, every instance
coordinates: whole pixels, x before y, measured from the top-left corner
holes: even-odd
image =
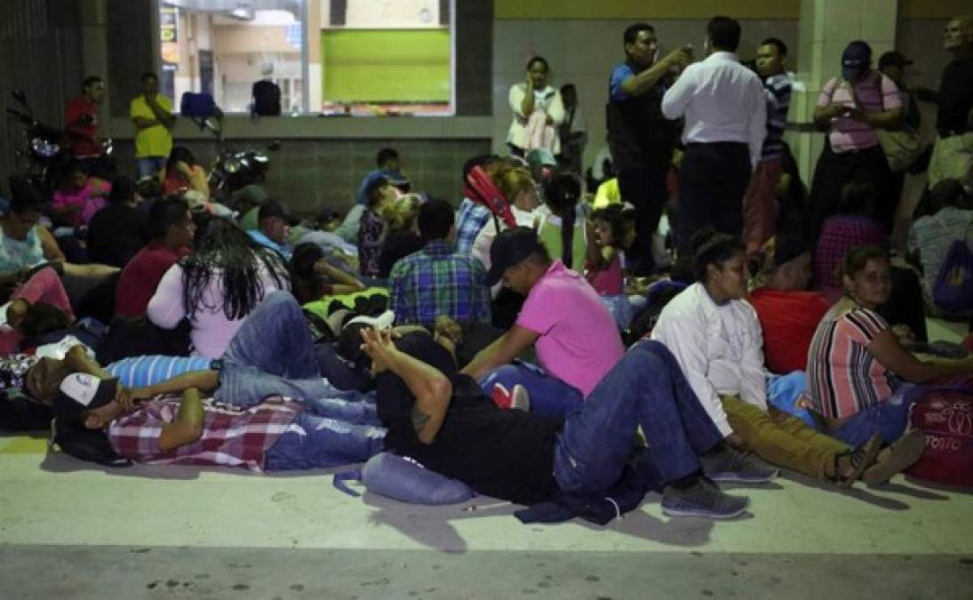
[[[942,179],[973,184],[973,17],[946,25],[943,47],[953,60],[939,81],[936,145],[929,163],[929,186]]]

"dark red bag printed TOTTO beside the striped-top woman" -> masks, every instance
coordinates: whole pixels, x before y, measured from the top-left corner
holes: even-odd
[[[906,473],[936,483],[973,486],[973,390],[926,394],[912,411],[925,451]]]

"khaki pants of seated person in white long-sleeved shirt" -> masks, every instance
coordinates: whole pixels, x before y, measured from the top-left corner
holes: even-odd
[[[850,448],[844,442],[812,430],[790,415],[771,415],[735,395],[721,395],[730,427],[754,453],[778,467],[825,478],[835,455]]]

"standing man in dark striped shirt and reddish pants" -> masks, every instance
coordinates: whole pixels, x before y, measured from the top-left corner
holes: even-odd
[[[767,38],[757,49],[757,73],[764,80],[767,94],[767,137],[743,197],[743,238],[750,256],[760,251],[776,229],[774,191],[783,171],[783,134],[791,93],[790,77],[784,71],[786,63],[787,46],[777,38]]]

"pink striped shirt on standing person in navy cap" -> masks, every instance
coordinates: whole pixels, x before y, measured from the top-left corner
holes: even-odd
[[[880,84],[881,81],[881,84]],[[852,87],[854,91],[852,92]],[[902,107],[899,90],[891,79],[878,71],[870,71],[855,84],[846,80],[832,77],[824,85],[821,94],[817,96],[818,106],[841,104],[851,108],[858,104],[866,113],[877,113],[883,110]],[[850,117],[835,117],[831,120],[831,130],[828,133],[831,149],[836,153],[865,150],[879,145],[879,136],[868,124],[855,121]]]

